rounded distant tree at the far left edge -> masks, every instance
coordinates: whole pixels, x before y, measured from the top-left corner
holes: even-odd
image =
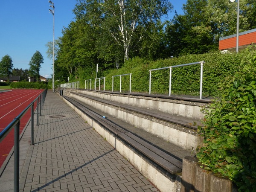
[[[9,81],[9,76],[12,75],[12,58],[9,55],[3,56],[0,61],[0,76],[7,77]]]

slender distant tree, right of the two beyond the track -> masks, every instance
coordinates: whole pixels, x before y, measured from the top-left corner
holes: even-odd
[[[30,66],[29,71],[30,71],[30,75],[32,75],[32,77],[35,76],[37,81],[39,81],[39,76],[40,76],[39,72],[40,72],[42,63],[44,63],[44,57],[41,54],[41,52],[36,51],[29,61],[29,66]]]

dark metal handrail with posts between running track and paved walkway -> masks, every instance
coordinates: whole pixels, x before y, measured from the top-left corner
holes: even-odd
[[[25,115],[29,108],[31,108],[31,145],[34,145],[34,102],[39,101],[40,97],[40,105],[37,105],[37,119],[38,119],[38,107],[40,108],[40,116],[41,110],[43,109],[43,102],[45,100],[45,96],[47,94],[47,89],[43,91],[33,102],[31,102],[12,122],[7,125],[3,131],[0,132],[0,142],[9,134],[9,132],[14,128],[14,191],[19,191],[19,176],[20,176],[20,119]],[[38,125],[38,123],[37,123]]]

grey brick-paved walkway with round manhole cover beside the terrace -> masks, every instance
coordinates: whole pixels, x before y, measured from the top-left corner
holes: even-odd
[[[29,145],[30,123],[21,141],[20,191],[157,191],[57,93],[48,91],[41,114],[35,145]],[[11,158],[0,192],[13,191],[12,166]]]

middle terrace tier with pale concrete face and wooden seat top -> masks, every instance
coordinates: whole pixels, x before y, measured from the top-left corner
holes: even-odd
[[[122,119],[122,121],[128,122],[188,151],[193,151],[198,146],[197,126],[200,125],[200,120],[198,119],[125,105],[77,92],[79,90],[66,90],[65,94],[102,111],[105,114],[104,116],[108,114]]]

